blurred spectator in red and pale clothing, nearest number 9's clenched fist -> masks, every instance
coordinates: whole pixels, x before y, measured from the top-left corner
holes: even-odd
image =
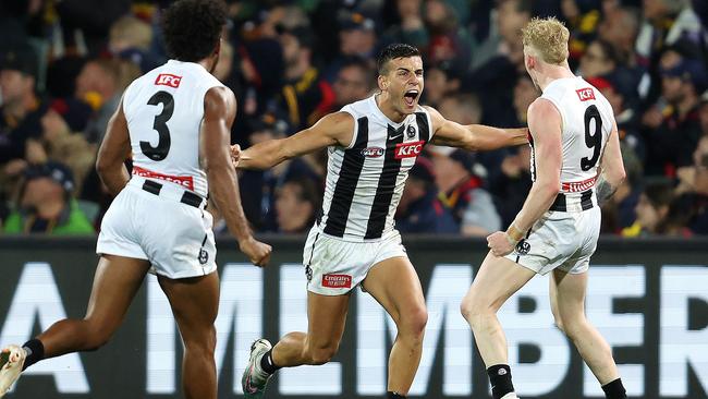
[[[440,202],[450,209],[463,235],[486,237],[501,229],[501,218],[491,195],[473,174],[474,155],[448,147],[435,147],[432,166]],[[449,154],[445,154],[449,153]]]

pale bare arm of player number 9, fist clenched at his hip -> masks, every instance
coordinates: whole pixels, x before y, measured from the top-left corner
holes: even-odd
[[[528,107],[528,129],[534,137],[536,181],[516,218],[505,232],[487,238],[497,256],[511,253],[526,231],[550,208],[561,186],[561,114],[549,100],[538,98]]]

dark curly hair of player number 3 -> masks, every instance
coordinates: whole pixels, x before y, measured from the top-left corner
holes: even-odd
[[[162,16],[164,46],[171,58],[196,62],[213,52],[227,23],[221,0],[179,0]]]

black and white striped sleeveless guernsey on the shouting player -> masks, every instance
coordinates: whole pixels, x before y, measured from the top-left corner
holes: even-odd
[[[330,146],[319,231],[347,241],[378,240],[393,232],[393,215],[408,170],[432,137],[430,116],[418,106],[401,123],[381,112],[375,96],[350,104],[349,147]]]

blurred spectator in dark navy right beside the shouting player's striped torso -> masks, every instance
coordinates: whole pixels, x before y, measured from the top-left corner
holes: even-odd
[[[438,200],[436,177],[429,160],[418,157],[408,172],[395,214],[402,233],[456,233],[459,228]]]

